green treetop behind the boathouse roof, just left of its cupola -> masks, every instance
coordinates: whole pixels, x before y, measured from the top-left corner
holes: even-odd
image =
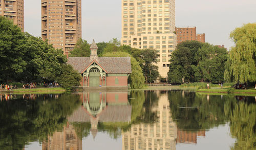
[[[70,52],[71,57],[90,57],[90,45],[86,40],[79,38],[73,51]]]

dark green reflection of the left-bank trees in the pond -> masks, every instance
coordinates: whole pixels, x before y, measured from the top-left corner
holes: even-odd
[[[62,130],[66,117],[79,105],[79,96],[55,97],[54,94],[9,95],[4,100],[2,96],[0,149],[23,149],[25,144],[42,141],[56,130]]]

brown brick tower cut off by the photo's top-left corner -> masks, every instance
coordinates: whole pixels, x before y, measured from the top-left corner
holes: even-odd
[[[24,32],[24,0],[0,0],[0,15],[12,19]]]

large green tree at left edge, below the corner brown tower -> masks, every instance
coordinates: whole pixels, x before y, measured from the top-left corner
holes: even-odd
[[[23,73],[27,62],[23,59],[26,52],[24,33],[13,22],[0,16],[0,72],[6,82],[15,75]]]

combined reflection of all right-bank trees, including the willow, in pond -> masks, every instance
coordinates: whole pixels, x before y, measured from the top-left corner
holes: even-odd
[[[254,97],[170,91],[168,99],[179,130],[198,133],[229,122],[231,135],[237,138],[231,149],[256,148]]]

